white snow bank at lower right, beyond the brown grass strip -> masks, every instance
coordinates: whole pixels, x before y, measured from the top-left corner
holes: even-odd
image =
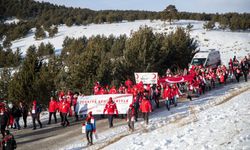
[[[127,136],[104,149],[249,149],[249,96],[248,90],[227,103],[167,126],[158,127],[159,122],[154,121],[148,130]]]

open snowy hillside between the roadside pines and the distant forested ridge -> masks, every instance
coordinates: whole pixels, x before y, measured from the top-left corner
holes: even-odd
[[[58,27],[58,34],[53,38],[46,38],[44,40],[35,40],[35,29],[27,35],[27,37],[18,39],[12,42],[12,49],[20,48],[23,54],[27,48],[31,45],[40,45],[40,43],[52,43],[57,53],[60,53],[62,49],[63,40],[66,36],[69,37],[90,37],[93,35],[105,35],[111,34],[119,36],[120,34],[126,34],[129,36],[131,32],[137,31],[140,26],[150,26],[155,32],[171,32],[176,27],[186,27],[188,24],[192,24],[193,30],[190,32],[191,36],[195,38],[201,49],[215,48],[219,49],[222,54],[222,63],[228,62],[228,58],[233,55],[243,57],[250,53],[250,33],[245,32],[227,32],[227,31],[206,31],[203,29],[203,21],[193,20],[180,20],[174,23],[174,25],[166,24],[159,20],[140,20],[135,22],[122,22],[112,24],[90,24],[87,26],[72,26],[67,27],[61,25]]]

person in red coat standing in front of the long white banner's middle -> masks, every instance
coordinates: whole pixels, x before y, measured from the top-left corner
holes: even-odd
[[[105,105],[105,108],[103,110],[103,114],[105,114],[106,111],[107,111],[107,114],[108,114],[109,127],[111,128],[111,127],[113,127],[114,113],[116,113],[116,115],[118,115],[118,110],[117,110],[117,107],[116,107],[116,103],[112,100],[112,97],[109,98],[109,101]]]

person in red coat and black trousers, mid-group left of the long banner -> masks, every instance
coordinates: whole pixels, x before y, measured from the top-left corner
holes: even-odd
[[[63,121],[62,121],[62,126],[69,126],[69,121],[67,119],[67,115],[69,113],[69,109],[70,109],[70,104],[67,102],[67,98],[64,97],[63,102],[60,105],[60,110],[62,113],[62,117],[63,117]]]

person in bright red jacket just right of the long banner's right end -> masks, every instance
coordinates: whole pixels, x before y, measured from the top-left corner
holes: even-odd
[[[143,99],[140,105],[140,110],[142,112],[144,122],[148,124],[148,116],[149,116],[149,113],[152,112],[152,106],[149,100],[146,98],[146,96],[143,96]]]

